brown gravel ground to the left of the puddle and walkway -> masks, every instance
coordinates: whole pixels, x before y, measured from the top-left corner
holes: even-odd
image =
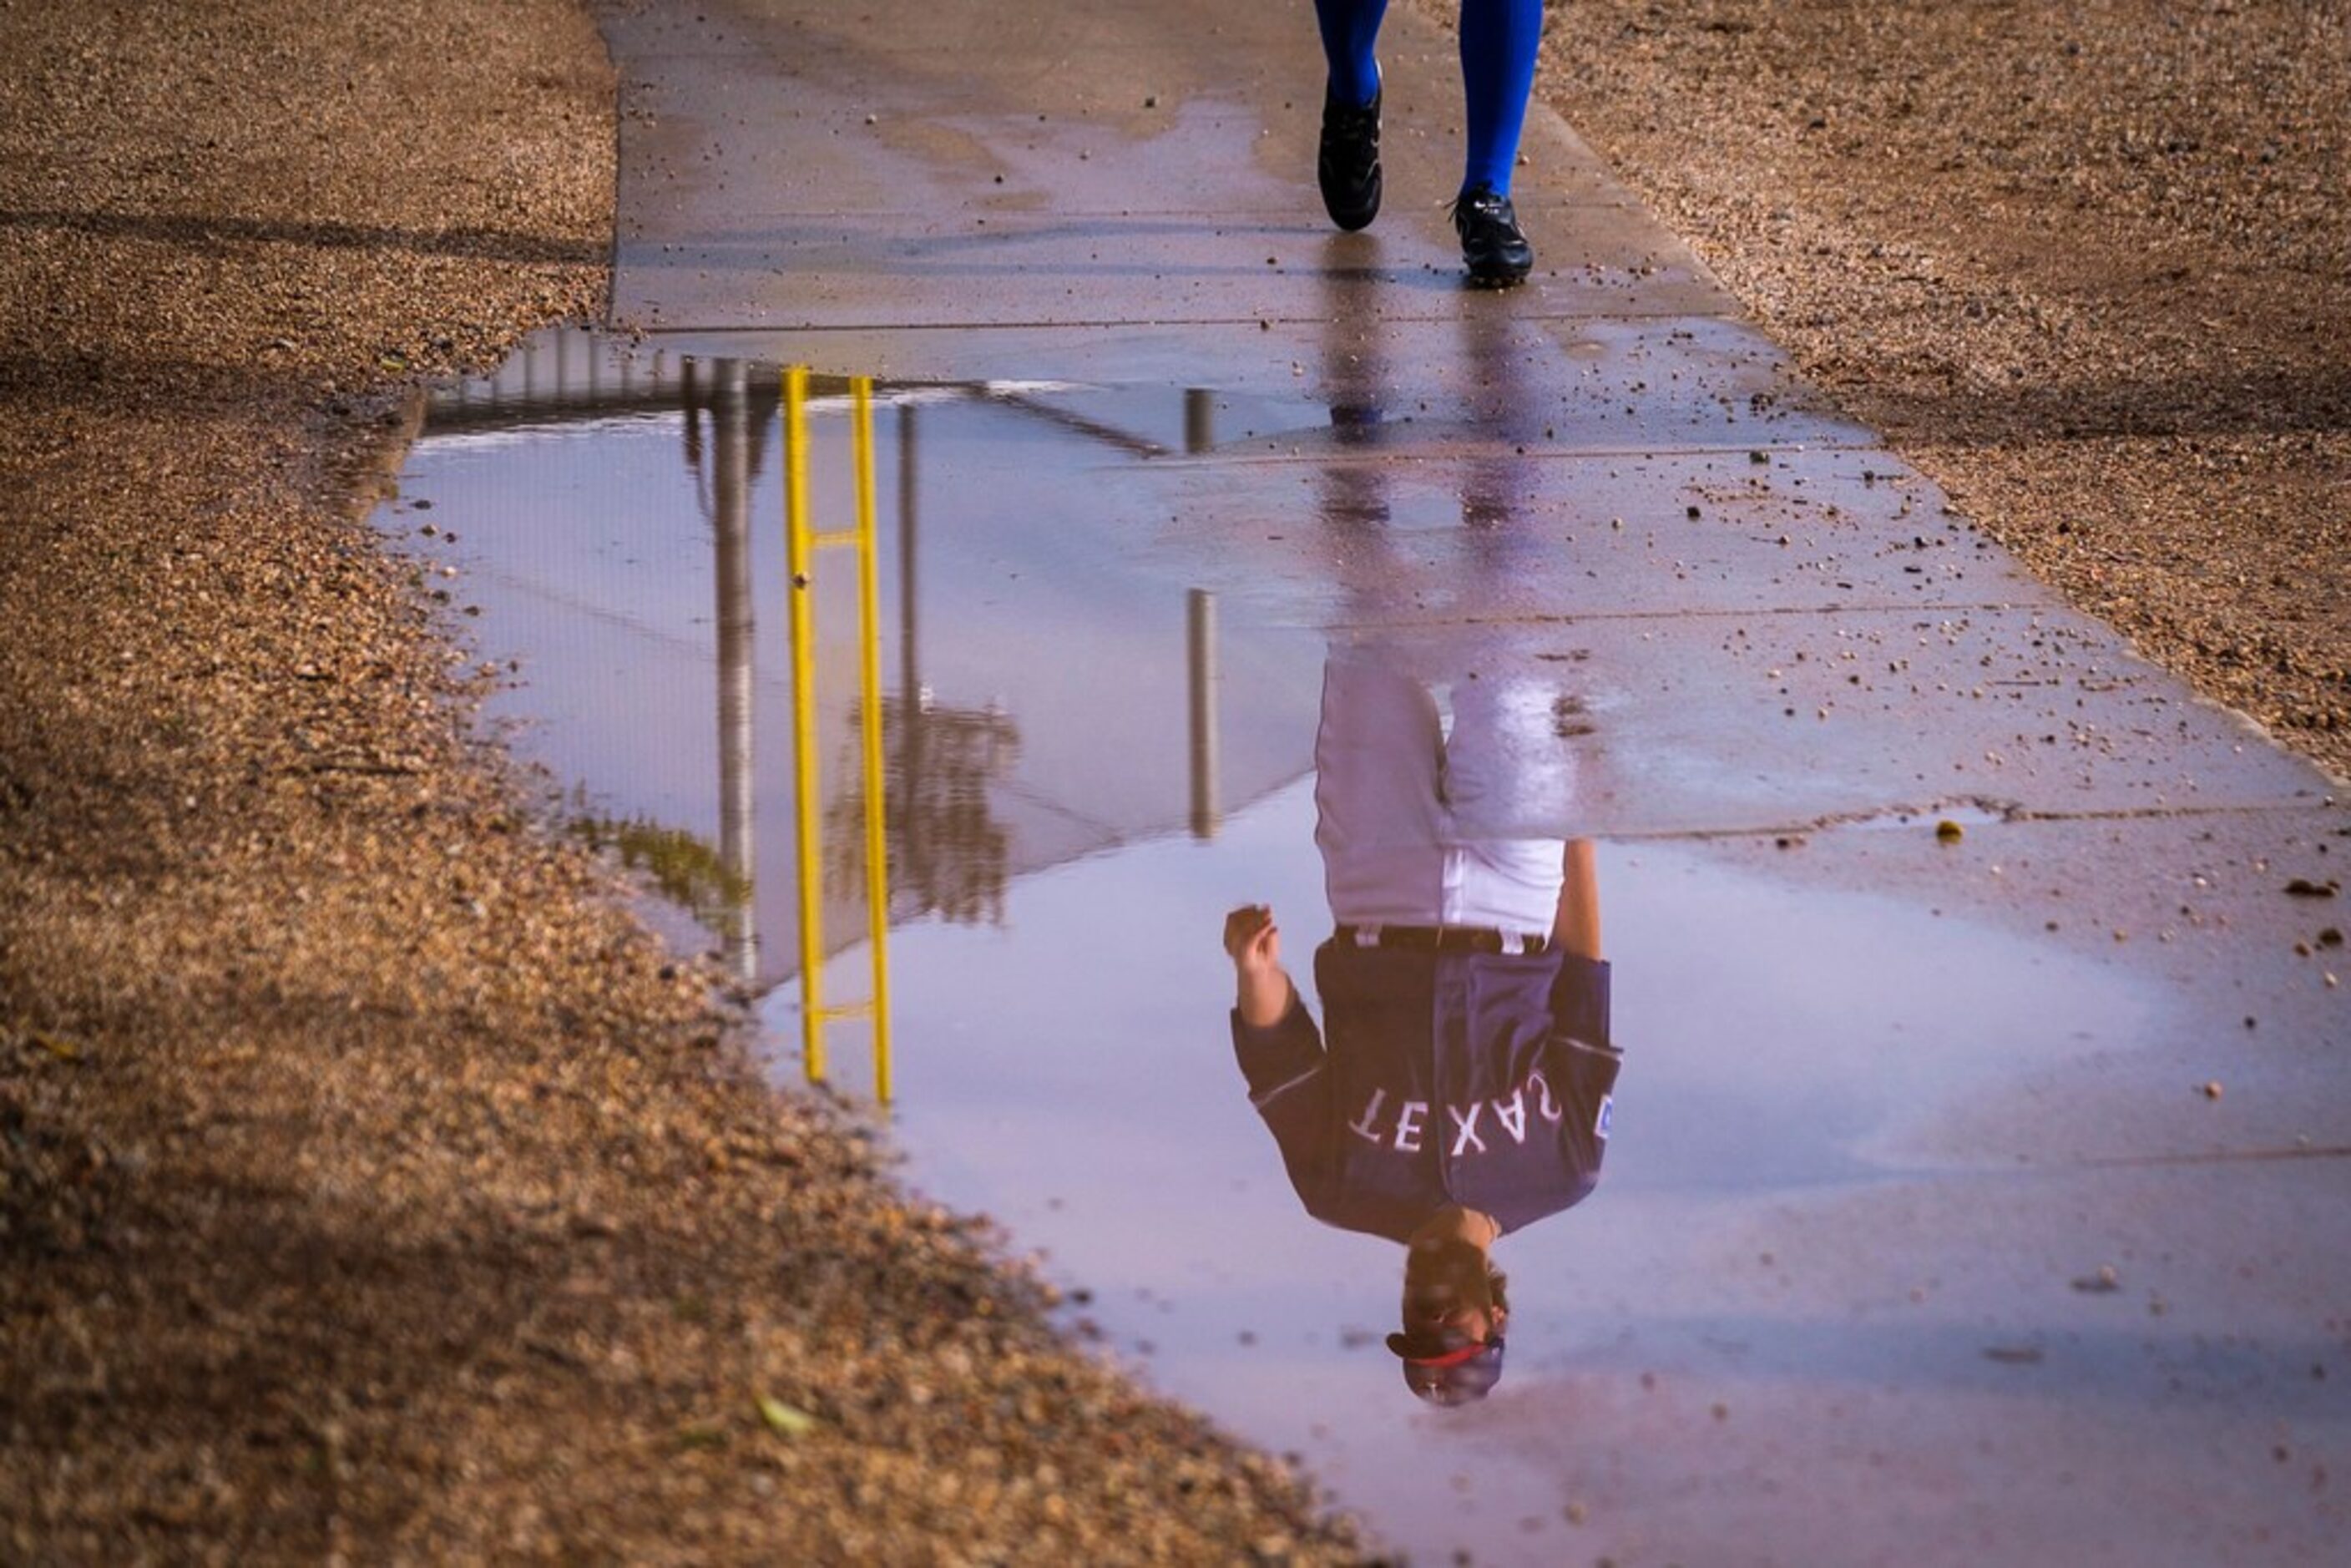
[[[571,0],[0,0],[0,1559],[1352,1559],[468,741],[362,512],[414,376],[602,306]]]

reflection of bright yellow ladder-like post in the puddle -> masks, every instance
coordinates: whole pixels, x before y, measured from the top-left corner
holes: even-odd
[[[818,531],[809,520],[809,371],[783,371],[783,512],[792,569],[792,757],[799,818],[799,1030],[809,1081],[825,1079],[825,1025],[872,1018],[875,1098],[889,1105],[889,858],[882,832],[882,590],[875,571],[875,416],[872,376],[849,381],[849,447],[856,468],[856,527]],[[823,825],[816,792],[816,550],[851,545],[858,555],[858,729],[865,771],[865,922],[872,947],[872,999],[823,1001]]]

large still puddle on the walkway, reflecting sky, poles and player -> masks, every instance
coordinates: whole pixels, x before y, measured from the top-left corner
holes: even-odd
[[[1535,1147],[1554,1091],[1596,1119],[1606,1084],[1549,1056],[1514,1058],[1549,1072],[1540,1086],[1474,1077],[1476,1053],[1460,1056],[1472,1077],[1392,1081],[1394,1110],[1364,1107],[1382,1159],[1396,1157],[1371,1175],[1338,1124],[1314,1135],[1340,1154],[1300,1135],[1300,1161],[1335,1159],[1357,1185],[1401,1168],[1396,1145],[1444,1140],[1455,1197],[1493,1192],[1498,1211],[1528,1211],[1493,1246],[1509,1269],[1509,1378],[1476,1406],[1425,1406],[1385,1345],[1401,1237],[1305,1211],[1234,1058],[1220,933],[1237,905],[1270,905],[1286,969],[1328,1023],[1314,947],[1333,914],[1415,924],[1404,905],[1425,900],[1469,924],[1549,929],[1573,903],[1561,835],[1578,766],[1606,743],[1578,668],[1460,637],[1333,649],[1220,614],[1187,585],[1164,496],[1138,475],[1168,456],[1213,458],[1237,435],[1328,425],[1328,409],[1051,383],[875,397],[877,621],[858,628],[853,569],[820,555],[804,665],[788,635],[788,409],[764,367],[545,341],[496,386],[435,404],[383,527],[458,569],[447,581],[482,611],[480,654],[520,670],[494,705],[517,750],[560,780],[567,816],[691,907],[679,931],[766,997],[781,1072],[797,1072],[809,931],[828,997],[870,987],[858,745],[870,646],[891,1128],[910,1178],[1046,1253],[1081,1293],[1072,1326],[1227,1427],[1305,1455],[1415,1556],[1556,1561],[1559,1474],[1578,1455],[1554,1443],[1521,1462],[1495,1443],[1528,1401],[1608,1356],[1627,1324],[1667,1354],[1676,1324],[1702,1338],[1716,1309],[1709,1260],[1759,1208],[1916,1173],[1925,1161],[1907,1154],[1907,1133],[1949,1098],[2020,1063],[2111,1048],[2158,1004],[2118,971],[2010,931],[1902,898],[1799,893],[1702,839],[1603,844],[1592,882],[1613,1013],[1599,1032],[1622,1046],[1625,1074],[1594,1201],[1538,1215],[1573,1175],[1549,1164],[1476,1185],[1476,1154],[1483,1140],[1502,1147],[1514,1093],[1531,1091],[1516,1119]],[[811,383],[806,421],[811,512],[842,529],[858,510],[846,388]],[[813,670],[806,708],[799,668]],[[802,712],[818,771],[813,853],[795,809]],[[1364,755],[1349,759],[1354,743]],[[1422,771],[1444,778],[1441,820],[1404,832],[1439,788],[1413,783]],[[1448,849],[1432,858],[1432,844]],[[1326,893],[1340,860],[1352,870],[1331,879],[1357,910]],[[1566,882],[1580,886],[1578,872]],[[1578,919],[1561,924],[1570,947]],[[1559,1016],[1582,1006],[1549,978],[1585,973],[1556,952],[1349,947],[1324,976],[1385,983],[1349,978],[1364,952],[1378,976],[1432,983],[1533,966],[1538,1001]],[[1573,1016],[1589,1037],[1589,1009]],[[830,1023],[823,1037],[835,1081],[868,1088],[872,1025]],[[1260,1093],[1279,1086],[1267,1072]],[[1425,1131],[1396,1119],[1413,1098]],[[1469,1105],[1486,1110],[1465,1138]],[[1559,1126],[1580,1128],[1566,1114]],[[1582,1133],[1566,1143],[1570,1166],[1601,1147]],[[1613,1453],[1603,1434],[1587,1450],[1592,1465]]]

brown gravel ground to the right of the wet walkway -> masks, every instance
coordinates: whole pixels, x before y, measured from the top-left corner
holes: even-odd
[[[2351,776],[2351,5],[1568,0],[1538,92],[2043,581]]]

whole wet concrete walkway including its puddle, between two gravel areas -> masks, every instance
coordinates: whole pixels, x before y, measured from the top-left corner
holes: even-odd
[[[2323,1561],[2351,1023],[2344,905],[2285,891],[2351,858],[2323,776],[1794,383],[1554,120],[1547,270],[1458,289],[1411,16],[1413,202],[1357,237],[1312,209],[1302,16],[607,28],[647,336],[437,397],[383,527],[781,1077],[804,933],[830,999],[872,985],[870,646],[910,1180],[1392,1547]],[[856,515],[846,376],[865,630],[846,550],[785,559],[795,454],[818,527]],[[1328,1060],[1237,1056],[1239,905]],[[1436,922],[1552,940],[1394,936]],[[872,1025],[823,1034],[870,1093]],[[1446,1190],[1509,1272],[1507,1373],[1455,1408],[1385,1345]]]

